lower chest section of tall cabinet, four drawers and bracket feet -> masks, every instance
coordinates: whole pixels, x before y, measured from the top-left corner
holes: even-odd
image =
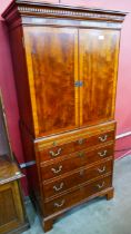
[[[27,156],[36,159],[29,183],[44,232],[71,207],[97,196],[113,197],[114,121],[34,142],[23,126],[21,130]]]

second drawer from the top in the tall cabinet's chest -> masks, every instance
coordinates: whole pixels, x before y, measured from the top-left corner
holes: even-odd
[[[47,165],[42,163],[40,168],[42,181],[60,176],[82,166],[89,166],[112,155],[113,145],[111,144],[90,152],[82,150],[74,153],[69,157],[62,157],[61,160],[57,159],[53,164]]]

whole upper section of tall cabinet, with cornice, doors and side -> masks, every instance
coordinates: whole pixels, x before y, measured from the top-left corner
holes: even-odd
[[[33,137],[113,120],[124,12],[17,0],[2,16],[21,120]]]

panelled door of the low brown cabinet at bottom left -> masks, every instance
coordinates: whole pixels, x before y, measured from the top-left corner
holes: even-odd
[[[18,182],[0,185],[0,233],[17,233],[22,225],[24,214]]]

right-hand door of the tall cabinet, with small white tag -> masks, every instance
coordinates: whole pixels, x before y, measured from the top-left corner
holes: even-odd
[[[80,126],[113,119],[118,71],[119,31],[79,31]]]

